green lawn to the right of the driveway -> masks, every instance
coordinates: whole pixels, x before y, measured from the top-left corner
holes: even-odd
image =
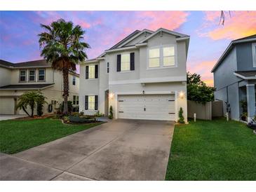
[[[256,135],[223,118],[176,125],[166,180],[256,180]]]

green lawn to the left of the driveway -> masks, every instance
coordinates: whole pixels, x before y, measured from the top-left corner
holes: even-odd
[[[50,118],[0,121],[0,151],[8,154],[18,153],[95,125],[100,123],[64,125],[61,121]]]

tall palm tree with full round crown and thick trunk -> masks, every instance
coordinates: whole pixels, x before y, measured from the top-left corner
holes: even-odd
[[[85,31],[81,26],[73,25],[63,19],[42,25],[45,32],[39,34],[41,57],[52,63],[53,69],[62,71],[63,76],[63,114],[67,114],[67,97],[69,96],[69,71],[76,70],[76,64],[87,59],[88,43],[82,42]]]

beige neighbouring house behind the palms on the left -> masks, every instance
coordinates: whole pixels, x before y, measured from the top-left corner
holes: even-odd
[[[41,90],[48,102],[43,113],[53,113],[63,101],[62,87],[62,72],[54,70],[46,60],[20,63],[0,60],[0,114],[25,114],[15,106],[20,95],[29,90]],[[72,71],[69,72],[69,100],[79,106],[79,74]]]

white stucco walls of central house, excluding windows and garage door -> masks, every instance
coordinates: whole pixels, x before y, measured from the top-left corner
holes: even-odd
[[[150,37],[151,36],[151,37]],[[178,119],[178,111],[182,107],[184,118],[187,121],[187,49],[189,36],[181,36],[166,29],[156,32],[140,32],[132,41],[119,43],[116,48],[105,51],[102,57],[88,60],[81,64],[79,109],[85,114],[93,114],[100,111],[106,114],[109,106],[113,107],[114,118],[119,118],[118,102],[119,95],[174,95],[175,97],[175,121]],[[143,39],[147,41],[143,42]],[[137,44],[139,43],[139,44]],[[121,45],[121,46],[120,46]],[[122,46],[123,45],[123,46]],[[135,46],[138,45],[138,46]],[[175,47],[175,65],[170,67],[149,68],[148,54],[150,48],[162,48],[165,46]],[[135,55],[135,69],[129,71],[117,71],[117,55]],[[109,73],[107,73],[109,63]],[[99,66],[98,78],[86,79],[86,66],[97,64]],[[109,91],[109,97],[105,91]],[[98,109],[88,110],[85,108],[85,95],[98,95]],[[109,102],[107,105],[106,102]],[[157,111],[156,111],[157,112]]]

